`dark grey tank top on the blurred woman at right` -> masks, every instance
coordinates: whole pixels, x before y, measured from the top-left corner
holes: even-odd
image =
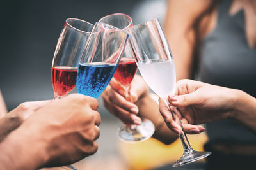
[[[246,39],[244,10],[230,15],[230,4],[230,0],[220,2],[218,24],[202,41],[197,77],[256,97],[256,49]],[[232,120],[209,123],[206,131],[210,141],[256,143],[255,134]]]

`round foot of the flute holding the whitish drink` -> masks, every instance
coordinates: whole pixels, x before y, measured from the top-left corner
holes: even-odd
[[[177,162],[175,162],[172,167],[184,166],[191,162],[195,162],[196,160],[203,159],[204,157],[207,157],[211,154],[211,152],[200,152],[195,151],[192,148],[188,148],[184,150],[182,157],[177,160]]]

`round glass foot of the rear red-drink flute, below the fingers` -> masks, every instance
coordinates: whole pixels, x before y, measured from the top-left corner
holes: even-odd
[[[117,136],[121,141],[128,143],[134,143],[138,141],[145,141],[150,138],[155,132],[154,124],[147,118],[141,118],[140,125],[136,125],[134,128],[129,128],[123,125],[118,127]]]

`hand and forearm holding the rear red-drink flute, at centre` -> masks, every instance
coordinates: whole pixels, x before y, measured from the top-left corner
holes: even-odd
[[[148,87],[141,76],[136,75],[132,80],[130,95],[126,99],[119,91],[118,83],[111,80],[111,88],[102,93],[104,106],[109,112],[120,118],[125,124],[140,124],[140,117],[148,118],[156,127],[153,137],[165,144],[170,144],[177,139],[178,136],[164,124],[158,104],[150,97]],[[136,111],[132,112],[132,108]],[[202,132],[200,126],[195,125],[184,126],[184,129],[189,134],[195,134],[195,132],[191,132],[191,129],[197,129],[196,133]]]

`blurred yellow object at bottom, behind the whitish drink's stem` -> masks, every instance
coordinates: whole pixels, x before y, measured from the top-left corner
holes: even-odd
[[[204,143],[208,140],[205,132],[188,135],[191,147],[203,151]],[[120,141],[120,153],[131,169],[154,169],[176,162],[183,153],[183,147],[178,138],[171,145],[164,145],[154,138],[138,143],[124,143]],[[204,161],[204,160],[199,160]]]

